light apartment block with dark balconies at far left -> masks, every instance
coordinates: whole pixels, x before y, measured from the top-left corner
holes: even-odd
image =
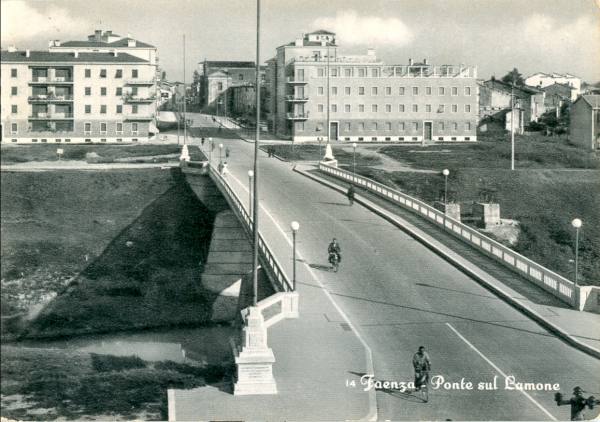
[[[128,53],[1,52],[3,143],[147,140],[155,67]]]

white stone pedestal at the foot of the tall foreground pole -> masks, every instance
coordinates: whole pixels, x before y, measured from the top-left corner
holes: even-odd
[[[273,378],[275,356],[267,345],[265,320],[257,307],[248,310],[242,329],[242,344],[233,345],[237,365],[233,394],[277,394],[277,384]]]

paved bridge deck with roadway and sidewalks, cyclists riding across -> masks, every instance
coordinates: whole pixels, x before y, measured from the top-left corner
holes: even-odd
[[[240,210],[247,213],[254,146],[240,139],[215,142],[229,148],[231,156],[228,174],[213,178],[244,218]],[[218,151],[211,158],[216,168]],[[528,287],[525,279],[519,285],[518,274],[492,265],[492,257],[480,254],[474,264],[463,256],[473,248],[453,247],[458,237],[466,237],[461,228],[442,220],[445,230],[432,229],[423,221],[435,222],[438,216],[418,203],[405,203],[404,214],[397,211],[400,204],[390,204],[383,199],[389,195],[378,191],[383,187],[370,192],[362,186],[359,204],[349,206],[342,194],[347,175],[325,167],[294,171],[291,163],[265,153],[259,160],[260,234],[287,279],[281,279],[282,292],[289,291],[285,286],[292,274],[290,222],[300,223],[299,317],[268,329],[278,394],[233,396],[216,387],[170,390],[169,419],[560,420],[568,417],[568,408],[557,407],[554,391],[544,386],[559,384],[565,394],[576,385],[600,391],[593,375],[600,373],[595,355],[600,317],[573,309],[580,301],[571,301],[572,286],[560,288],[561,280],[555,279],[563,296],[572,290],[568,299],[560,298],[533,282]],[[343,251],[337,273],[326,262],[333,237]],[[489,254],[498,255],[489,248]],[[361,384],[365,374],[379,381],[412,381],[411,360],[420,345],[431,356],[432,375],[449,383],[430,388],[428,403]],[[506,379],[539,384],[541,390],[524,391]]]

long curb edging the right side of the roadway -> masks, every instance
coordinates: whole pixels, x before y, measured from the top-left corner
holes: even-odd
[[[297,169],[297,168],[294,167],[293,171],[295,171],[295,172],[297,172],[297,173],[299,173],[299,174],[301,174],[301,175],[303,175],[305,177],[308,177],[309,179],[314,180],[317,183],[321,183],[322,185],[327,186],[327,187],[329,187],[329,188],[331,188],[331,189],[333,189],[335,191],[338,191],[338,192],[340,192],[342,194],[345,193],[345,189],[341,188],[339,185],[336,185],[336,184],[334,184],[332,182],[329,182],[327,180],[321,179],[320,177],[314,176],[314,175],[312,175],[310,173],[307,173],[304,170],[299,170],[299,169]],[[596,359],[600,359],[600,350],[598,350],[595,347],[592,347],[592,346],[590,346],[588,344],[585,344],[585,343],[577,340],[576,338],[574,338],[573,336],[571,336],[568,332],[566,332],[565,330],[563,330],[559,326],[557,326],[557,325],[555,325],[555,324],[547,321],[546,319],[544,319],[544,317],[542,317],[540,314],[538,314],[535,310],[533,310],[529,306],[527,306],[527,305],[521,303],[520,301],[512,298],[502,288],[500,288],[498,286],[495,286],[494,284],[492,284],[488,280],[486,280],[483,275],[478,274],[472,268],[469,268],[469,266],[467,266],[464,263],[460,262],[455,257],[450,256],[447,252],[443,251],[440,247],[438,247],[437,245],[434,245],[428,239],[426,239],[425,237],[423,237],[420,234],[418,234],[413,228],[410,227],[410,224],[408,224],[406,222],[399,221],[399,220],[401,220],[401,217],[388,215],[388,213],[386,211],[381,210],[376,205],[372,205],[370,203],[367,203],[367,201],[365,199],[361,198],[358,195],[355,195],[354,200],[356,202],[358,202],[359,204],[363,205],[365,208],[369,209],[370,211],[372,211],[375,214],[379,215],[380,217],[384,218],[385,220],[387,220],[391,224],[393,224],[396,227],[400,228],[402,231],[408,233],[410,236],[412,236],[413,238],[415,238],[416,240],[418,240],[420,243],[422,243],[425,247],[427,247],[431,251],[435,252],[440,257],[442,257],[444,260],[448,261],[449,263],[451,263],[452,265],[454,265],[455,267],[457,267],[458,269],[460,269],[463,273],[465,273],[469,277],[473,278],[475,281],[477,281],[479,284],[481,284],[486,289],[490,290],[495,295],[499,296],[502,300],[504,300],[505,302],[507,302],[513,308],[516,308],[517,310],[519,310],[520,312],[522,312],[523,314],[525,314],[526,316],[528,316],[529,318],[533,319],[535,322],[537,322],[538,324],[540,324],[546,330],[550,331],[551,333],[553,333],[557,337],[560,337],[563,341],[565,341],[566,343],[568,343],[570,346],[573,346],[573,347],[579,349],[580,351],[582,351],[584,353],[587,353],[590,356],[595,357]],[[482,273],[484,273],[482,270],[480,270],[480,271]],[[487,277],[493,278],[493,277],[491,277],[491,276],[489,276],[487,274],[485,274],[485,275]]]

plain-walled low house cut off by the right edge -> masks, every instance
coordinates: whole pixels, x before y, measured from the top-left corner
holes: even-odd
[[[588,149],[600,149],[600,95],[582,95],[571,106],[569,139]]]

